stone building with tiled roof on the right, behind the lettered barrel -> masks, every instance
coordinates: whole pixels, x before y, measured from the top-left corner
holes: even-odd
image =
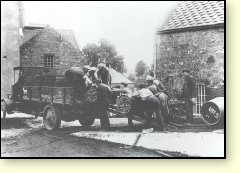
[[[224,1],[178,3],[157,31],[156,77],[174,97],[182,88],[179,74],[189,68],[201,104],[224,96],[224,40]]]

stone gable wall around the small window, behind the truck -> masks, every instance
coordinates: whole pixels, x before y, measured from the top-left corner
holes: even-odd
[[[22,67],[44,67],[44,56],[54,55],[54,68],[63,74],[72,66],[83,66],[80,50],[72,46],[52,28],[46,28],[21,45],[20,63]]]

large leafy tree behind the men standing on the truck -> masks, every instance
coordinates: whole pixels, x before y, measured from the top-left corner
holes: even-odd
[[[124,57],[118,55],[116,47],[105,39],[101,39],[97,44],[88,44],[83,48],[83,55],[87,64],[97,66],[99,60],[105,60],[106,63],[120,73],[127,71],[124,64]]]

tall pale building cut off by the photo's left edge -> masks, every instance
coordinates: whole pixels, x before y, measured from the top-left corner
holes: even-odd
[[[20,65],[19,34],[24,25],[22,1],[1,2],[1,97],[11,93],[13,67]]]

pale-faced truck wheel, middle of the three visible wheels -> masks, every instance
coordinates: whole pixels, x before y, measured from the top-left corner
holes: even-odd
[[[43,111],[43,124],[47,130],[58,129],[61,125],[61,113],[59,108],[47,105]]]

